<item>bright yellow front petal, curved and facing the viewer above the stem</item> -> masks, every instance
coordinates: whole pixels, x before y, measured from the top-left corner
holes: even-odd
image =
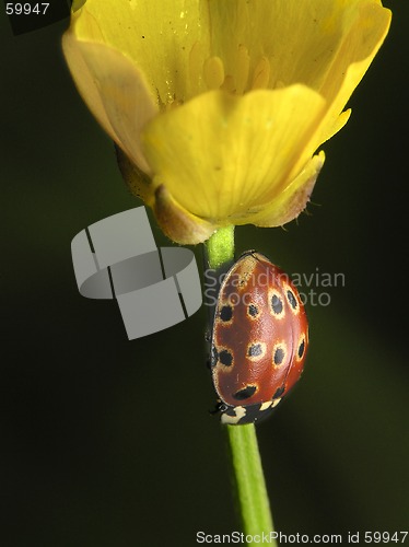
[[[311,158],[324,108],[325,101],[303,85],[242,97],[202,94],[145,127],[153,184],[210,222],[259,212]]]

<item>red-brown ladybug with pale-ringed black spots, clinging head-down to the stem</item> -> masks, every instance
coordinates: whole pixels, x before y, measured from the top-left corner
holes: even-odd
[[[211,373],[222,423],[269,416],[300,379],[308,323],[294,284],[266,256],[244,253],[220,287]]]

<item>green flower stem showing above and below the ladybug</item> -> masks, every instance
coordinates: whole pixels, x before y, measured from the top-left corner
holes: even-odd
[[[234,260],[234,226],[215,232],[206,243],[209,267],[225,270]],[[270,504],[258,451],[256,428],[247,426],[222,426],[229,443],[234,494],[246,535],[267,534],[268,545],[277,546]]]

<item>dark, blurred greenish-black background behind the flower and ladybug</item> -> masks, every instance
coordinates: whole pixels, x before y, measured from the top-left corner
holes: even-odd
[[[308,213],[285,230],[236,231],[237,255],[257,248],[289,274],[343,275],[299,288],[326,293],[307,302],[305,373],[258,428],[287,534],[408,529],[409,4],[385,4],[389,36],[350,121],[323,147]],[[67,25],[13,36],[0,16],[0,544],[191,547],[198,531],[239,529],[208,412],[206,314],[128,341],[114,302],[78,293],[72,237],[141,203],[68,74]]]

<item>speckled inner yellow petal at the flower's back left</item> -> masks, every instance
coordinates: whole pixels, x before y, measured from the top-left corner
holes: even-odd
[[[191,81],[190,86],[189,57],[197,42],[202,47],[196,49],[195,62],[202,68],[209,56],[207,2],[87,0],[73,14],[71,32],[79,40],[121,51],[143,72],[163,104],[206,90],[203,82]]]

